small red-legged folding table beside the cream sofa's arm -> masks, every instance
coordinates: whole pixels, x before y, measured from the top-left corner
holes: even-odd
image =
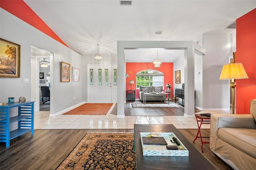
[[[209,142],[203,142],[202,138],[210,138],[210,136],[202,136],[201,132],[200,132],[200,129],[201,129],[202,124],[210,124],[211,117],[206,116],[206,115],[201,115],[201,114],[195,114],[195,116],[196,116],[198,131],[197,131],[196,138],[194,139],[193,143],[195,143],[197,138],[200,138],[201,143],[202,143],[201,149],[202,149],[202,152],[204,152],[203,146],[204,146],[204,144],[209,144]],[[200,122],[200,124],[199,124],[199,122]],[[199,134],[199,136],[198,136],[198,134]]]

